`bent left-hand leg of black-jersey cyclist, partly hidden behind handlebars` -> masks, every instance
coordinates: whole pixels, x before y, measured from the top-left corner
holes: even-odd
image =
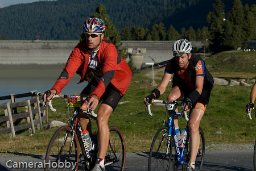
[[[183,98],[184,98],[183,91],[178,86],[175,86],[174,88],[171,89],[171,91],[167,97],[167,101],[168,102],[180,101]],[[175,111],[177,111],[177,109]],[[179,127],[178,116],[174,116],[174,125],[175,125],[175,128]]]

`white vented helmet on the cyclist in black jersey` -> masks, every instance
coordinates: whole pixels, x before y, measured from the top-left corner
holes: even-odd
[[[172,46],[172,52],[174,52],[174,56],[181,56],[185,53],[191,53],[192,43],[187,39],[179,39],[175,41]]]

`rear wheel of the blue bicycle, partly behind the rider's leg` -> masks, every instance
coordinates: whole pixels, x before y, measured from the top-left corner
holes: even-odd
[[[204,132],[203,130],[199,127],[199,135],[200,135],[200,144],[199,144],[199,149],[196,155],[196,161],[195,161],[195,170],[201,170],[203,167],[203,162],[204,162],[204,153],[205,153],[205,139],[204,139]],[[185,159],[187,160],[183,164],[183,170],[187,169],[187,164],[189,162],[189,135],[187,139],[187,145],[185,149]]]

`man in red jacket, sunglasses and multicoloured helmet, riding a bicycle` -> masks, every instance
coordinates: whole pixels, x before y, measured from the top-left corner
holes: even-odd
[[[63,72],[53,85],[51,95],[59,94],[71,77],[77,72],[81,76],[80,82],[92,70],[92,81],[82,90],[82,94],[89,94],[89,102],[84,102],[81,110],[95,110],[99,101],[102,101],[97,111],[98,126],[98,159],[93,170],[105,170],[104,159],[109,142],[108,120],[117,103],[122,98],[131,81],[131,70],[126,61],[119,55],[114,44],[104,38],[106,26],[100,18],[89,18],[84,22],[85,41],[77,44],[64,66]],[[46,101],[46,94],[43,95]],[[87,115],[79,113],[79,123],[82,129],[91,133],[91,123]]]

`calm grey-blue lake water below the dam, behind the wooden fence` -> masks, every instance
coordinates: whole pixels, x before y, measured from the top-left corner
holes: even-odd
[[[59,65],[0,65],[0,97],[11,94],[22,94],[36,90],[44,93],[51,89],[59,78],[64,64]],[[77,94],[88,84],[80,81],[75,74],[64,87],[61,94]],[[23,100],[20,98],[20,100]],[[19,99],[17,99],[19,101]],[[6,101],[0,101],[0,104]]]

